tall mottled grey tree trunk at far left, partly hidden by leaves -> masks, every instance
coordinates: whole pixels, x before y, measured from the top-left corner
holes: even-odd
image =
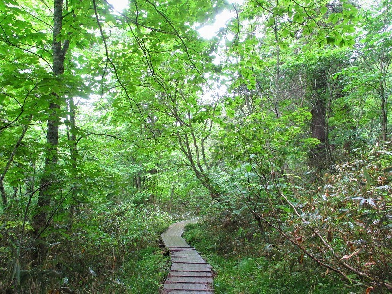
[[[61,28],[63,19],[63,0],[54,0],[53,12],[53,73],[61,75],[64,73],[64,54],[68,46],[61,44]],[[66,45],[66,44],[64,44]],[[47,123],[47,150],[45,152],[45,165],[43,176],[40,181],[40,191],[37,201],[37,213],[33,217],[33,228],[35,236],[40,234],[41,228],[46,226],[48,207],[53,195],[53,182],[56,180],[56,166],[58,158],[58,125],[60,122],[58,109],[59,94],[52,93],[53,99],[49,105],[49,119]]]

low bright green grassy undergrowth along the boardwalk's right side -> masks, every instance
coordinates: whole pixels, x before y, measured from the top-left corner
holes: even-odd
[[[285,257],[263,256],[259,244],[247,244],[245,251],[238,246],[233,252],[222,252],[220,234],[209,234],[206,222],[187,225],[183,236],[211,264],[216,294],[363,293],[316,265],[293,266]]]

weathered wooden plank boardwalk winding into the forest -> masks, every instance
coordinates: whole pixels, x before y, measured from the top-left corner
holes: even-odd
[[[172,224],[161,235],[172,258],[172,268],[161,294],[211,294],[214,293],[211,267],[181,237],[185,225],[198,218]]]

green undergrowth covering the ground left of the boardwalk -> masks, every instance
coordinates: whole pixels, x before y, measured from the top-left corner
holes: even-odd
[[[153,206],[85,207],[72,231],[60,226],[61,218],[48,228],[46,241],[40,241],[47,254],[34,267],[29,231],[23,243],[14,242],[15,250],[7,250],[20,229],[9,220],[0,231],[8,237],[0,238],[0,269],[6,269],[0,270],[0,293],[158,293],[171,265],[159,249],[159,235],[173,222]]]

